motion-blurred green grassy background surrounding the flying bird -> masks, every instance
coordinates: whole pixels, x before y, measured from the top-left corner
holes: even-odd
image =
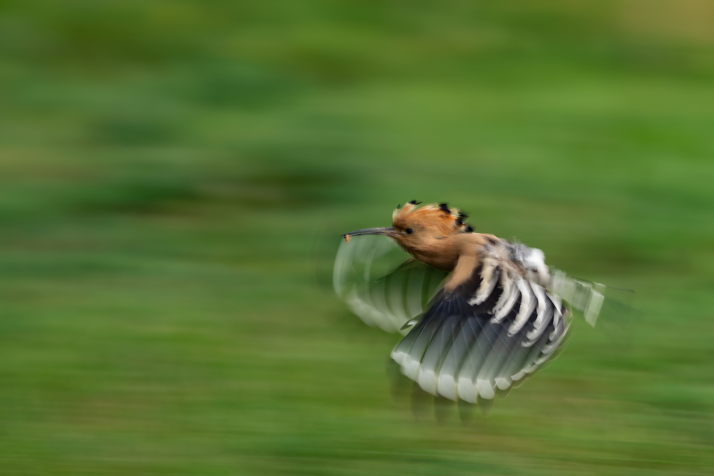
[[[2,1],[3,475],[714,472],[714,3]],[[637,290],[462,425],[338,234],[448,201]]]

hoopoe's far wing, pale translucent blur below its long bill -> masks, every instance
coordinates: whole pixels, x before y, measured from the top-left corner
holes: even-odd
[[[360,236],[341,243],[333,285],[366,324],[406,334],[404,325],[426,310],[446,275],[411,259],[386,236]]]

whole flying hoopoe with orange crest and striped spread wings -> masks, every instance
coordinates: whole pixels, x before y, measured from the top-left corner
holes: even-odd
[[[433,395],[476,403],[553,356],[570,308],[595,325],[604,286],[548,268],[541,250],[475,233],[466,218],[446,203],[398,206],[391,227],[342,236],[333,278],[362,320],[406,334],[391,352],[404,375]],[[374,279],[389,245],[350,241],[366,235],[388,236],[413,258]]]

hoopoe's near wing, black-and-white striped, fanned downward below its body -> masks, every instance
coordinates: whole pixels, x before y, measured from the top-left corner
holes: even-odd
[[[533,373],[568,330],[562,301],[498,265],[443,290],[391,357],[423,390],[451,400],[490,400]]]

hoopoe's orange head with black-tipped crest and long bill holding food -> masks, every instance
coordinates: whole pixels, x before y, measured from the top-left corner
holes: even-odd
[[[467,218],[458,208],[449,208],[446,203],[418,207],[417,201],[398,206],[392,213],[392,226],[367,228],[346,233],[343,238],[361,235],[386,235],[396,240],[408,252],[428,247],[433,240],[447,238],[459,233],[471,233],[473,228],[464,222]]]

